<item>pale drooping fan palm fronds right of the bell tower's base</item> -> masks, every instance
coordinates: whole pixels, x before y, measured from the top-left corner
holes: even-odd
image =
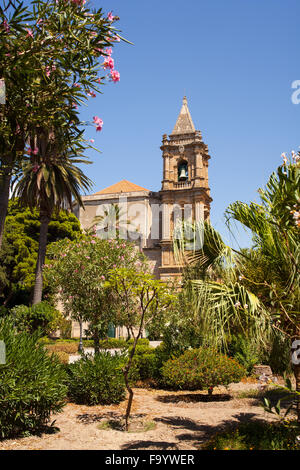
[[[187,251],[184,233],[203,240],[202,246]],[[236,251],[223,242],[208,221],[184,222],[183,227],[177,226],[176,237],[175,258],[185,267],[184,286],[192,291],[192,308],[207,343],[226,350],[237,332],[263,341],[269,334],[268,313],[258,297],[242,285]]]

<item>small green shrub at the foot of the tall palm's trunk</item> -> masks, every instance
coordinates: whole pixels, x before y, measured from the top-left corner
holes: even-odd
[[[46,301],[32,307],[17,305],[11,309],[11,315],[19,331],[33,333],[40,329],[44,335],[55,331],[62,319],[61,313]]]

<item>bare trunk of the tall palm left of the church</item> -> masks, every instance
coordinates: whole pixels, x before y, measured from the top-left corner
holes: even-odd
[[[35,270],[35,284],[33,291],[33,300],[32,305],[38,304],[42,300],[43,294],[43,265],[45,263],[46,249],[47,249],[47,235],[48,235],[48,226],[50,222],[49,214],[41,212],[40,221],[40,236],[39,236],[39,251],[38,258],[36,262]]]

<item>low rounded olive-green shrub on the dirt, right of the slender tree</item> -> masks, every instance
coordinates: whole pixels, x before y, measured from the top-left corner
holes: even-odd
[[[239,382],[246,370],[213,349],[189,349],[162,366],[162,384],[173,390],[205,390]]]

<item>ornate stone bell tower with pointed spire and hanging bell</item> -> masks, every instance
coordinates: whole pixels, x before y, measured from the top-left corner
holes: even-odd
[[[173,254],[172,235],[177,218],[209,219],[208,147],[195,130],[186,97],[172,133],[163,135],[163,207],[160,278],[180,276]]]

